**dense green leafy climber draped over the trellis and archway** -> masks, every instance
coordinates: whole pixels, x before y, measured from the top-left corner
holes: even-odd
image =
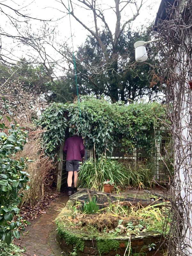
[[[53,103],[44,111],[37,125],[44,128],[43,146],[46,154],[52,157],[67,128],[71,133],[76,128],[84,137],[85,147],[94,145],[96,154],[106,151],[110,155],[114,146],[118,146],[124,153],[144,148],[150,155],[155,148],[154,131],[156,139],[161,140],[159,127],[164,115],[164,108],[158,103],[124,105],[84,97],[80,111],[77,102]]]

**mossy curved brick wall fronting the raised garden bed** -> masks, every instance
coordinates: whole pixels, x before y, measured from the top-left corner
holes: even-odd
[[[75,248],[75,244],[70,244],[64,239],[57,237],[58,242],[60,243],[61,248],[64,252],[73,252]],[[82,238],[84,246],[81,246],[81,251],[78,251],[77,247],[77,255],[79,256],[89,256],[89,255],[105,255],[105,256],[123,256],[125,250],[127,248],[127,252],[125,255],[133,255],[133,256],[163,256],[166,252],[165,244],[162,245],[164,238],[161,234],[157,232],[146,232],[143,233],[142,236],[131,237],[131,251],[129,254],[129,237],[128,236],[119,236],[118,238],[110,238],[107,240],[87,240],[87,238]],[[149,251],[149,244],[156,244],[155,249],[151,249]],[[161,246],[160,246],[161,245]],[[112,249],[113,248],[113,249]],[[99,251],[98,251],[99,249]]]

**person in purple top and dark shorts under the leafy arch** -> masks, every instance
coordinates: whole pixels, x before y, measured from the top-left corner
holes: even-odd
[[[80,138],[77,133],[65,142],[63,151],[67,154],[66,157],[66,171],[68,172],[67,184],[68,184],[68,196],[72,195],[72,177],[74,174],[74,193],[77,191],[77,177],[79,166],[84,157],[84,143],[83,139]]]

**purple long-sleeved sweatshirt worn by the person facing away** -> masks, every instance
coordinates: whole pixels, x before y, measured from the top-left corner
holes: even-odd
[[[66,161],[81,161],[85,153],[83,139],[79,138],[77,135],[68,138],[65,142],[63,151],[67,154]]]

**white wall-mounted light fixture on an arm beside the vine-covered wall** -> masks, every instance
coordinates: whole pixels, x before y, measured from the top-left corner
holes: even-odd
[[[138,62],[143,62],[145,60],[148,59],[148,56],[147,56],[147,50],[146,50],[146,47],[145,45],[146,44],[149,44],[149,43],[152,43],[152,42],[156,42],[156,41],[159,41],[160,39],[155,39],[155,40],[151,40],[151,41],[138,41],[136,43],[134,43],[134,47],[135,47],[135,60],[138,61]]]

